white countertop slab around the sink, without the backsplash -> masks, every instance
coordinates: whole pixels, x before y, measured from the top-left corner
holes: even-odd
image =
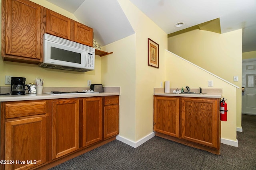
[[[154,96],[178,96],[193,98],[221,98],[222,94],[176,94],[176,93],[154,93]]]

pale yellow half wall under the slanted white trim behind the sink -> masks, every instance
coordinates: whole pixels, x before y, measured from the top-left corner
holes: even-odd
[[[228,103],[228,121],[221,121],[221,138],[236,141],[237,88],[169,51],[166,51],[166,63],[166,79],[170,80],[171,88],[181,88],[184,85],[190,88],[210,88],[208,80],[213,80],[212,88],[222,88],[222,97],[226,98]]]

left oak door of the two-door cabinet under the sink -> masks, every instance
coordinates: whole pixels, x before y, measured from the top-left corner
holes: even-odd
[[[154,131],[179,137],[179,98],[154,96]]]

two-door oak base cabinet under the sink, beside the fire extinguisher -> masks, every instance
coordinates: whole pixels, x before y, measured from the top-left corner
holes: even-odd
[[[154,96],[156,136],[220,154],[219,98]]]

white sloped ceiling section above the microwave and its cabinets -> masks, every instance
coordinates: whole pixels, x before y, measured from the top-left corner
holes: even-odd
[[[106,45],[134,34],[134,30],[116,0],[85,0],[74,16],[93,28],[94,39]]]

